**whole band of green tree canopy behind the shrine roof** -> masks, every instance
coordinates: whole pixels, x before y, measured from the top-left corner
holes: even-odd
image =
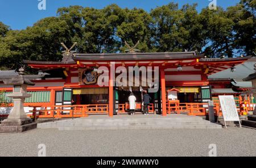
[[[169,3],[147,12],[114,4],[70,6],[26,30],[10,30],[0,22],[0,69],[18,68],[22,60],[60,61],[61,42],[77,42],[80,53],[125,52],[125,41],[134,45],[138,40],[141,52],[197,51],[208,57],[255,52],[256,0],[241,0],[226,10],[198,12],[196,7]]]

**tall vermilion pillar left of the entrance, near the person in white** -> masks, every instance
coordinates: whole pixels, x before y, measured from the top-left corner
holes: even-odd
[[[111,72],[111,65],[110,64],[110,68],[109,68],[109,116],[112,117],[113,116],[113,112],[114,112],[114,90],[113,90],[113,72]]]

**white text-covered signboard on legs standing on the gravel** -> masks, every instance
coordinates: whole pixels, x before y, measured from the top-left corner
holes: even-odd
[[[234,101],[234,96],[220,95],[218,96],[218,99],[220,100],[220,105],[221,105],[222,115],[225,121],[225,126],[226,126],[226,121],[239,121],[240,123],[240,119],[237,112],[237,106]],[[240,124],[240,127],[241,127],[241,124]]]

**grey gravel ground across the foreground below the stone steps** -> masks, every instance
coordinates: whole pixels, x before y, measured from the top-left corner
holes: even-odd
[[[217,156],[256,156],[256,130],[150,129],[118,131],[58,131],[34,129],[0,134],[0,156],[208,156],[209,144]]]

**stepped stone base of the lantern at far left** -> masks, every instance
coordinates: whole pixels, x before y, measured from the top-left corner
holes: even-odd
[[[31,119],[6,119],[0,125],[0,133],[19,133],[36,127],[37,123],[33,123]]]

